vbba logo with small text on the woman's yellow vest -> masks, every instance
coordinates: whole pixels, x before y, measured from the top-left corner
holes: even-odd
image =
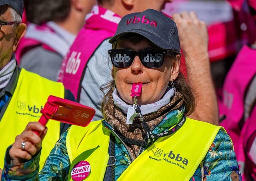
[[[170,164],[177,165],[182,169],[186,169],[186,166],[188,165],[188,159],[182,157],[179,153],[174,153],[173,150],[169,153],[162,154],[162,149],[154,147],[152,152],[154,153],[154,156],[149,156],[149,158],[155,161],[166,161]]]

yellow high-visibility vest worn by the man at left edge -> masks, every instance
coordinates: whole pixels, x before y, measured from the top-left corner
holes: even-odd
[[[40,110],[44,107],[49,95],[63,98],[63,84],[42,78],[25,69],[20,71],[17,87],[0,121],[0,140],[2,140],[0,168],[3,168],[7,147],[14,143],[16,135],[22,133],[29,122],[39,120]],[[48,131],[42,143],[40,169],[56,141],[60,138],[59,121],[49,120],[47,127]]]

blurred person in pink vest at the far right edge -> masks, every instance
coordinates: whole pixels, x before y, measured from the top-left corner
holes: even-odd
[[[238,7],[241,1],[232,1]],[[256,1],[246,0],[241,10],[248,10],[256,25]],[[253,38],[253,37],[251,37]],[[252,39],[254,40],[254,39]],[[230,68],[223,87],[220,114],[226,119],[220,123],[234,143],[244,181],[256,180],[256,41],[244,44]]]

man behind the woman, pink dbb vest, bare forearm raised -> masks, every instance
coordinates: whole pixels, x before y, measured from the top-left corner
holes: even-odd
[[[111,44],[108,40],[116,32],[121,17],[147,8],[160,11],[168,2],[172,0],[98,0],[99,6],[87,15],[84,28],[62,62],[58,81],[63,82],[80,103],[96,109],[94,120],[103,118],[101,102],[104,93],[100,87],[112,80],[108,61]],[[190,116],[218,124],[218,107],[207,52],[208,35],[204,32],[206,27],[199,23],[194,13],[184,12],[175,16],[174,21],[178,26],[182,51],[189,58],[186,62],[188,81],[198,92],[198,106]]]

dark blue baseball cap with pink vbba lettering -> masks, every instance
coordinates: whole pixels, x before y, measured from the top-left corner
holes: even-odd
[[[159,48],[180,52],[180,40],[175,22],[159,11],[148,9],[140,13],[125,15],[118,24],[111,44],[127,33],[144,36]]]

